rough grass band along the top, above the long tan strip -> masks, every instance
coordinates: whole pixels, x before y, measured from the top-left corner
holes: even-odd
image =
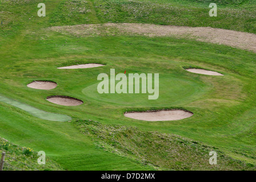
[[[218,8],[217,17],[209,16],[209,1],[65,1],[51,16],[50,26],[97,22],[151,23],[189,27],[210,26],[227,30],[256,32],[255,3],[250,4],[247,1],[239,1],[241,3],[238,1],[215,2],[222,5]]]

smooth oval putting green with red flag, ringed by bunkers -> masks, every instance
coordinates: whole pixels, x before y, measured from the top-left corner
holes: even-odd
[[[115,84],[117,84],[118,82],[119,81],[115,81]],[[140,93],[137,94],[99,94],[97,92],[98,84],[99,83],[87,86],[85,89],[82,90],[83,94],[85,94],[87,98],[91,98],[93,100],[126,106],[183,105],[205,94],[205,90],[207,88],[207,86],[203,84],[202,81],[192,80],[182,76],[160,74],[159,98],[157,100],[149,100],[148,96],[153,96],[154,93],[150,94],[147,92],[142,94],[141,86]],[[135,88],[135,85],[133,87]],[[128,88],[129,83],[127,81],[127,90]]]

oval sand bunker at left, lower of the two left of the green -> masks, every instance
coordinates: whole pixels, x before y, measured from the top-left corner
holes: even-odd
[[[46,100],[63,106],[78,106],[83,104],[83,101],[69,96],[49,96]]]

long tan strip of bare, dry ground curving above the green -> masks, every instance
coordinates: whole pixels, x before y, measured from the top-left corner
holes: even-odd
[[[50,27],[50,30],[76,36],[178,36],[256,52],[255,34],[211,27],[163,26],[141,23],[105,23]]]

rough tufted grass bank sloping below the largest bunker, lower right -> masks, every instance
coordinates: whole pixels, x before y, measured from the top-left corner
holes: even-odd
[[[74,125],[106,151],[129,156],[158,170],[256,170],[253,164],[230,158],[218,148],[174,134],[95,121],[78,120]],[[217,165],[209,164],[210,151],[217,152]]]

